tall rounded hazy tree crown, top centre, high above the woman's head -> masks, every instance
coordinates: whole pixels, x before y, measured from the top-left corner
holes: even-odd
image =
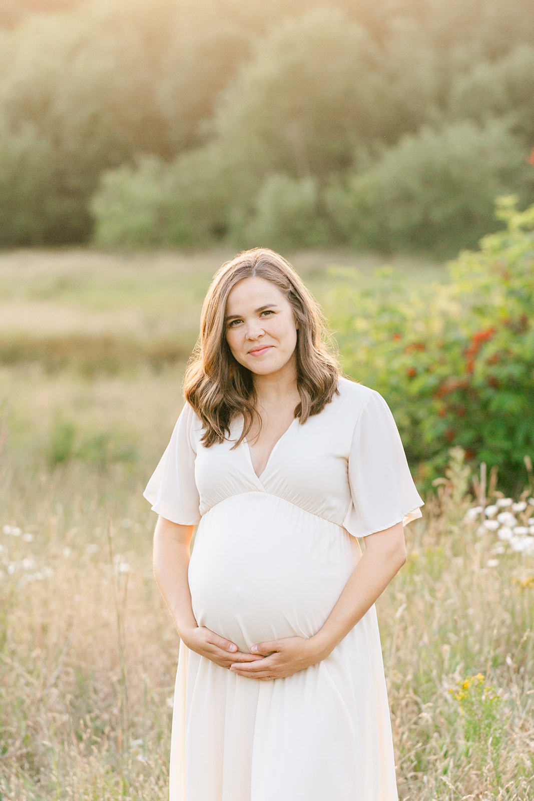
[[[259,173],[327,178],[361,139],[393,136],[395,105],[369,34],[333,9],[281,22],[223,97],[222,139]]]

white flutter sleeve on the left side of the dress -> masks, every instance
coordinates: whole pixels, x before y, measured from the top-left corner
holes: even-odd
[[[152,510],[180,525],[200,520],[200,498],[195,484],[195,413],[186,404],[143,495]]]

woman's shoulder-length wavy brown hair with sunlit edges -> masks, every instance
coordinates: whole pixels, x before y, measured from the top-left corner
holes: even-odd
[[[215,273],[204,300],[199,340],[184,379],[183,394],[203,422],[203,444],[223,442],[231,421],[243,415],[247,437],[255,418],[252,373],[235,359],[226,339],[225,314],[231,289],[244,278],[258,276],[287,297],[298,323],[296,363],[300,403],[295,417],[302,423],[322,412],[337,392],[339,364],[323,312],[291,264],[267,248],[244,251]]]

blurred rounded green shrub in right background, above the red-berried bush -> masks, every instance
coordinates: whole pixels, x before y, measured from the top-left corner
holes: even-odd
[[[527,155],[506,122],[424,127],[363,174],[333,184],[325,199],[333,223],[357,247],[450,255],[491,230],[497,195],[520,191],[532,201]]]

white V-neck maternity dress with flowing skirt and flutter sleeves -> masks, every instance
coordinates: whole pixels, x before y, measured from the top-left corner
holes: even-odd
[[[145,490],[155,512],[199,524],[193,611],[248,652],[311,637],[361,556],[364,537],[423,504],[385,400],[339,379],[339,395],[295,419],[257,477],[246,441],[205,448],[185,405]],[[180,643],[171,801],[396,801],[375,607],[331,654],[288,678],[231,673]]]

